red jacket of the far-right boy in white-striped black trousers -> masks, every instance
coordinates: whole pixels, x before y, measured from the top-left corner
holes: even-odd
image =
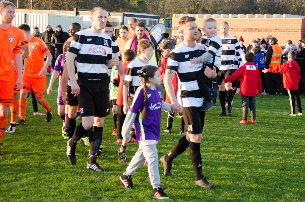
[[[294,60],[290,60],[277,67],[268,69],[268,72],[272,73],[284,73],[283,82],[284,88],[288,90],[299,89],[299,82],[301,78],[300,66]]]

